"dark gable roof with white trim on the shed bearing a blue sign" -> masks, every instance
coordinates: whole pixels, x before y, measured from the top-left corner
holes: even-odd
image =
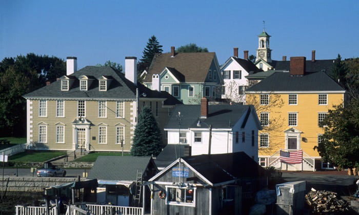
[[[180,159],[157,173],[149,181],[155,181]],[[189,168],[203,176],[203,180],[210,185],[225,184],[234,180],[244,178],[256,178],[264,175],[265,170],[251,159],[245,152],[234,152],[225,154],[201,154],[181,158]]]

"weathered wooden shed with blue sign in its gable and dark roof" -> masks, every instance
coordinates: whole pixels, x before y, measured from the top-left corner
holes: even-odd
[[[241,214],[264,173],[244,152],[178,158],[148,182],[151,214]]]

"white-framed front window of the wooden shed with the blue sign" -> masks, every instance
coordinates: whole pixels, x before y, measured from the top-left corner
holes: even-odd
[[[178,170],[183,171],[183,170]],[[179,173],[178,174],[185,174]],[[194,205],[195,189],[186,187],[167,187],[168,203]]]

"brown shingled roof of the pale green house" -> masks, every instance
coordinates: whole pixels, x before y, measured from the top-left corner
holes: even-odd
[[[151,82],[152,75],[161,73],[165,67],[182,74],[183,82],[204,82],[214,58],[214,52],[176,53],[172,57],[171,53],[156,54],[144,82]]]

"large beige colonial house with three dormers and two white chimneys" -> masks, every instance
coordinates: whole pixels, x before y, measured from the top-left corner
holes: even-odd
[[[142,107],[152,108],[163,130],[172,107],[180,103],[137,84],[136,57],[126,57],[125,74],[109,66],[76,70],[77,58],[68,57],[66,75],[24,95],[29,147],[129,151]]]

